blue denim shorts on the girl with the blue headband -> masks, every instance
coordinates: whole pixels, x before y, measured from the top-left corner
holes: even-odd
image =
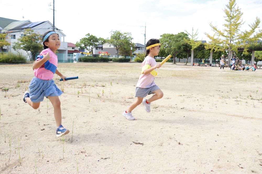
[[[42,80],[34,77],[29,85],[29,96],[33,103],[38,103],[48,96],[60,96],[63,92],[58,89],[54,80]]]

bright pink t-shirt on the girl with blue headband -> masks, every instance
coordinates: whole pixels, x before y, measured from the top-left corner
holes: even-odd
[[[57,64],[58,64],[57,55],[48,48],[48,49],[41,51],[40,56],[46,55],[46,53],[49,53],[49,56],[50,56],[50,59],[48,61],[57,67]],[[36,59],[36,61],[39,61],[39,60],[40,58]],[[35,77],[37,77],[38,79],[42,79],[42,80],[53,79],[53,76],[54,76],[53,72],[45,69],[44,66],[45,64],[43,64],[41,67],[37,69],[34,69]]]

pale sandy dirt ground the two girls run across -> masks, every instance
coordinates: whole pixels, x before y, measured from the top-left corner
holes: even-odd
[[[37,110],[22,100],[32,64],[0,65],[0,173],[262,173],[262,70],[165,63],[155,79],[164,97],[150,113],[135,108],[135,121],[122,112],[135,101],[141,63],[58,70],[79,76],[54,76],[64,141],[48,99]]]

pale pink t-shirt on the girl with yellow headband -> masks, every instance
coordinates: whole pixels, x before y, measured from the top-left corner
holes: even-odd
[[[156,65],[156,60],[153,57],[146,56],[146,58],[142,62],[142,67],[146,64],[149,64],[150,67],[154,67]],[[137,87],[150,88],[151,86],[155,85],[154,79],[155,77],[152,76],[150,73],[146,75],[143,73],[139,76]]]

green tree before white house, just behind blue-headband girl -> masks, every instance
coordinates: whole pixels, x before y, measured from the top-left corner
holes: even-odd
[[[43,49],[42,35],[35,33],[34,30],[25,29],[24,36],[17,39],[12,48],[18,52],[18,50],[24,50],[29,56],[30,61],[35,60],[36,53],[39,53]]]

